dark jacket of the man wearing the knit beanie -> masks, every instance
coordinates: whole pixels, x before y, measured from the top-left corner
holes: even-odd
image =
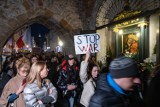
[[[131,103],[129,95],[123,95],[115,91],[107,82],[107,74],[102,74],[97,81],[95,94],[90,100],[89,107],[139,107]],[[141,106],[142,107],[142,106]]]

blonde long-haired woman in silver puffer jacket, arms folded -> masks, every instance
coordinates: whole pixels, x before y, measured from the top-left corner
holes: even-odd
[[[46,79],[48,68],[46,62],[38,61],[32,64],[24,88],[26,107],[51,107],[57,100],[57,90]]]

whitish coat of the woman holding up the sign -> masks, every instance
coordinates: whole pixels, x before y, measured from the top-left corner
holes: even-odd
[[[88,107],[90,98],[95,92],[95,81],[93,81],[92,78],[88,80],[88,75],[87,75],[87,67],[88,63],[85,61],[81,62],[81,68],[80,68],[80,79],[83,83],[83,91],[80,99],[80,103],[84,105],[85,107]]]

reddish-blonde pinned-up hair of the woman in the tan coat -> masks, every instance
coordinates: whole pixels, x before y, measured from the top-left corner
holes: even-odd
[[[20,59],[17,60],[16,62],[17,64],[17,69],[22,68],[25,64],[27,64],[28,66],[30,66],[30,61],[28,58],[26,57],[22,57]],[[29,72],[29,69],[26,71],[27,73]]]

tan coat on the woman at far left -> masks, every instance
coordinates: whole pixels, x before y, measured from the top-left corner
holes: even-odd
[[[0,107],[10,107],[10,104],[8,104],[8,97],[10,94],[16,93],[23,79],[24,77],[17,74],[14,78],[8,81],[0,98]],[[25,107],[23,93],[20,93],[18,98],[14,101],[14,107]]]

